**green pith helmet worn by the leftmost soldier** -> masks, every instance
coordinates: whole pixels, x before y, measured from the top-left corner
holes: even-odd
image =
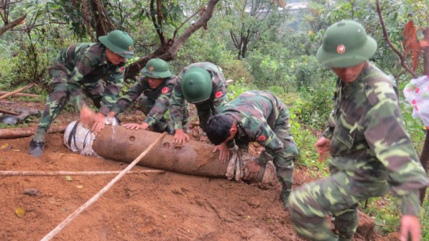
[[[134,58],[134,41],[127,33],[113,30],[108,35],[98,37],[98,40],[118,56]]]

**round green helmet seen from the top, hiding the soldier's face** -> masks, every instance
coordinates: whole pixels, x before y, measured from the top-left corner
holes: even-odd
[[[213,84],[212,76],[201,67],[189,69],[182,76],[182,94],[190,103],[198,103],[210,98]]]

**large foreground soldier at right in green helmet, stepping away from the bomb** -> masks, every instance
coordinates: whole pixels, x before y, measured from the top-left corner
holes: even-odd
[[[401,202],[401,240],[420,241],[419,188],[428,185],[403,127],[394,82],[368,62],[377,48],[357,22],[326,30],[317,60],[338,76],[329,127],[314,145],[331,152],[331,176],[302,185],[290,197],[296,232],[310,241],[351,241],[357,206],[390,190]],[[322,158],[323,159],[323,158]],[[335,216],[336,237],[325,220]]]

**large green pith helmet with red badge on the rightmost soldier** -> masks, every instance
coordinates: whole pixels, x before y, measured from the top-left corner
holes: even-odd
[[[317,51],[317,61],[333,68],[358,65],[375,54],[377,43],[358,22],[343,20],[332,24]]]

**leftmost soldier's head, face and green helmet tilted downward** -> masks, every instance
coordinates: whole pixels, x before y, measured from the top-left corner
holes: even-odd
[[[106,57],[112,64],[124,63],[126,58],[134,57],[134,41],[125,32],[113,30],[108,35],[98,37],[106,46]]]

